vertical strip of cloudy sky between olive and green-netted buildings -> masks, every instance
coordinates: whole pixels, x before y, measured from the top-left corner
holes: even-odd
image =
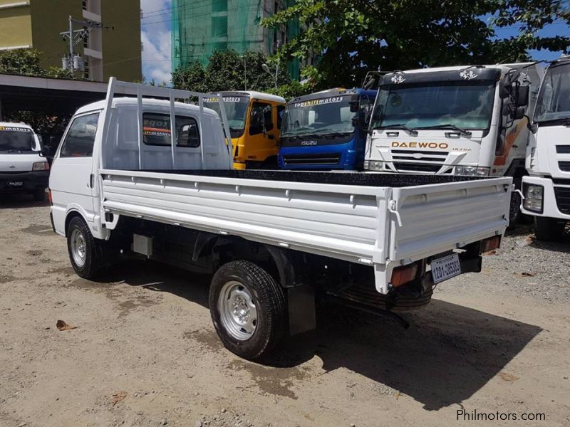
[[[142,75],[156,83],[170,83],[171,0],[141,0]]]

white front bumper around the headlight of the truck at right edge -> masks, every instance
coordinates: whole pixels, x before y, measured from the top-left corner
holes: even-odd
[[[551,178],[523,176],[522,193],[525,197],[529,186],[532,185],[542,187],[542,210],[525,209],[524,201],[522,201],[521,211],[523,214],[570,220],[570,180],[557,181],[555,184]]]

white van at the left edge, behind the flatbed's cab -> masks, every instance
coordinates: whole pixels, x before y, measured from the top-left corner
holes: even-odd
[[[49,163],[41,157],[41,144],[33,129],[23,123],[0,122],[0,194],[28,193],[41,201],[48,179]]]

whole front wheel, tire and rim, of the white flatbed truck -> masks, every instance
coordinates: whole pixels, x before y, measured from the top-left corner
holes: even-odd
[[[71,266],[81,278],[95,278],[105,267],[103,245],[93,237],[80,216],[73,217],[69,222],[67,248]]]

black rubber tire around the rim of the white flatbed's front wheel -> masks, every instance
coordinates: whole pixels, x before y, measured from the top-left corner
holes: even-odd
[[[84,241],[84,261],[78,263],[73,256],[74,231],[78,231],[83,236]],[[81,216],[75,216],[69,221],[67,228],[67,249],[71,266],[77,275],[84,279],[96,278],[106,266],[103,253],[103,243],[93,237],[87,223]]]

